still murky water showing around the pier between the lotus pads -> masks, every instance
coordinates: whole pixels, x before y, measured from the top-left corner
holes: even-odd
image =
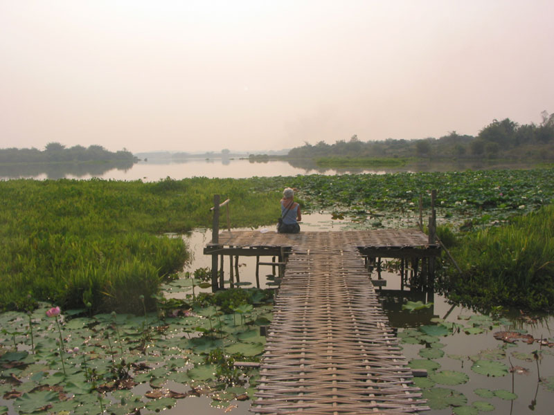
[[[301,224],[302,230],[307,231],[323,231],[323,230],[341,230],[348,225],[347,221],[335,221],[331,219],[330,214],[310,214],[303,215],[303,223]],[[263,228],[258,228],[262,230]],[[267,228],[269,232],[274,232],[274,228]],[[186,237],[186,241],[193,251],[193,259],[189,264],[186,264],[186,270],[193,271],[196,268],[211,266],[211,257],[209,255],[203,255],[202,250],[206,243],[211,240],[210,230],[197,230],[191,232]],[[228,257],[225,258],[228,261]],[[264,258],[263,260],[267,260]],[[240,257],[240,281],[251,282],[253,286],[256,284],[256,259],[255,257]],[[229,263],[224,266],[226,277],[229,276]],[[260,283],[261,288],[265,288],[264,277],[266,274],[271,274],[271,267],[266,266],[260,268]],[[373,278],[377,275],[372,275]],[[447,302],[445,297],[435,294],[432,298],[433,306],[429,310],[418,313],[407,313],[401,310],[403,296],[393,295],[391,296],[388,291],[400,290],[400,277],[395,273],[382,273],[382,277],[386,279],[386,287],[380,289],[382,293],[384,305],[384,311],[388,316],[391,326],[402,332],[409,328],[418,328],[421,325],[433,324],[431,319],[443,318],[447,322],[456,322],[458,324],[465,324],[466,318],[471,315],[476,315],[472,310],[463,308],[461,306],[452,306]],[[379,291],[379,289],[377,289]],[[413,299],[414,301],[419,299],[418,295],[413,298],[406,290],[405,298]],[[413,293],[412,293],[413,296]],[[511,316],[506,316],[508,320],[512,321],[513,326],[494,326],[486,327],[484,333],[480,334],[465,334],[463,331],[447,335],[440,338],[440,343],[444,344],[442,348],[445,352],[442,358],[434,359],[440,364],[438,370],[452,370],[461,371],[469,377],[469,381],[463,385],[435,385],[434,388],[452,388],[455,391],[461,392],[467,398],[467,406],[472,405],[477,401],[487,402],[494,405],[494,410],[488,412],[489,414],[504,415],[504,414],[551,414],[551,410],[554,407],[554,391],[549,391],[544,382],[539,382],[539,374],[541,378],[554,377],[554,349],[548,347],[542,348],[542,360],[539,361],[539,372],[537,373],[537,362],[534,360],[526,361],[522,360],[522,356],[532,356],[532,351],[539,349],[539,344],[536,342],[533,344],[526,344],[524,342],[516,342],[515,344],[506,344],[499,340],[495,340],[493,334],[497,331],[506,331],[510,329],[519,329],[526,331],[526,333],[533,335],[535,339],[539,338],[551,338],[551,342],[554,341],[554,318],[552,316],[544,316],[538,320],[524,321],[521,320],[519,311],[514,311]],[[465,324],[467,325],[467,324]],[[418,355],[422,348],[425,348],[422,344],[404,344],[404,356],[408,360],[422,359]],[[506,347],[506,358],[502,358],[501,362],[510,367],[521,367],[526,369],[528,374],[508,374],[501,377],[487,377],[481,374],[476,374],[472,371],[473,361],[470,360],[470,356],[475,356],[483,351],[496,350],[499,347]],[[497,389],[505,389],[506,391],[512,391],[517,394],[515,400],[504,400],[498,397],[482,398],[478,396],[476,389],[489,389],[495,391]],[[194,402],[194,412],[188,412],[192,410],[188,405],[192,405]],[[233,405],[237,405],[233,407]],[[186,408],[186,409],[183,409]],[[233,402],[230,407],[232,414],[248,414],[249,403],[237,403]],[[452,414],[453,408],[448,407],[446,409],[432,409],[430,412],[425,412],[429,415],[447,415]],[[178,403],[177,407],[172,409],[172,413],[202,413],[202,414],[221,414],[224,409],[214,409],[209,406],[209,400],[197,399],[195,401],[187,398],[182,403]],[[199,411],[199,412],[196,412]],[[470,413],[470,412],[467,412]],[[485,413],[485,412],[481,412]]]

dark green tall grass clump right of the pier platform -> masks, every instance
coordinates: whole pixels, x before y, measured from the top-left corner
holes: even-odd
[[[554,205],[469,234],[453,255],[466,277],[449,279],[452,299],[482,306],[554,308]]]

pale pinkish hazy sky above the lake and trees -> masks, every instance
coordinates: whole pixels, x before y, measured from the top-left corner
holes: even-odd
[[[552,0],[0,0],[0,147],[283,149],[554,112]]]

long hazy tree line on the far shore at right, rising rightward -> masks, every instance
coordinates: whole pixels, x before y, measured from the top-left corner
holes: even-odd
[[[542,113],[540,124],[522,124],[493,120],[474,136],[459,135],[456,131],[440,138],[382,141],[337,140],[332,145],[319,141],[305,142],[289,151],[289,158],[347,157],[435,157],[435,158],[554,158],[554,113]]]

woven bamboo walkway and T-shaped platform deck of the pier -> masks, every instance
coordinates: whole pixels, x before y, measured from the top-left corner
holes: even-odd
[[[221,232],[218,243],[204,252],[266,255],[260,252],[283,247],[289,249],[288,261],[251,412],[409,414],[429,409],[413,386],[361,252],[434,257],[438,246],[415,230]]]

